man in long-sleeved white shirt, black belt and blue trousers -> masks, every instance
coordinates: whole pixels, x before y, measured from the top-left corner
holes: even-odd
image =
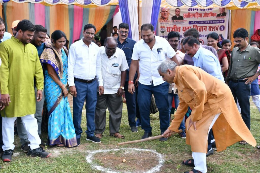
[[[98,46],[92,42],[96,27],[92,24],[84,26],[83,37],[73,43],[68,56],[68,84],[73,95],[73,124],[75,127],[77,143],[80,145],[82,134],[81,114],[86,100],[87,141],[100,143],[95,137],[95,109],[97,104],[97,91],[99,95],[104,92],[101,76],[101,60],[97,57]]]

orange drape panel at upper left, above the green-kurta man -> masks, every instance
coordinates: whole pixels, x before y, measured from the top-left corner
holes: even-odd
[[[9,1],[6,6],[7,32],[12,34],[12,23],[15,20],[29,19],[28,3],[15,3]],[[2,13],[1,13],[2,14]]]

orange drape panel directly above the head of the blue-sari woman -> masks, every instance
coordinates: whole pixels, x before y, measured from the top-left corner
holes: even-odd
[[[55,30],[61,30],[69,39],[69,11],[68,5],[50,6],[50,34]]]

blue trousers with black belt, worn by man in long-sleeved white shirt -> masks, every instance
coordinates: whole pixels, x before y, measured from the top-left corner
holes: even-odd
[[[86,117],[87,117],[87,136],[94,136],[95,127],[95,110],[97,104],[97,81],[92,83],[82,83],[75,81],[77,89],[77,97],[73,97],[73,124],[75,127],[76,138],[80,138],[81,129],[81,114],[84,101],[86,100]]]

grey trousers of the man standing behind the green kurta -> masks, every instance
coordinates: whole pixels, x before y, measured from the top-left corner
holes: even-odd
[[[37,96],[37,88],[34,88],[35,92],[35,99]],[[34,118],[37,120],[38,124],[38,135],[41,136],[41,125],[42,125],[42,109],[43,109],[43,104],[44,104],[44,90],[42,92],[42,100],[40,102],[36,101],[36,112],[34,114]],[[29,142],[28,136],[27,136],[27,131],[25,130],[22,120],[20,117],[17,117],[16,119],[16,127],[17,127],[17,132],[18,136],[20,138],[20,143],[23,145],[25,142]]]

